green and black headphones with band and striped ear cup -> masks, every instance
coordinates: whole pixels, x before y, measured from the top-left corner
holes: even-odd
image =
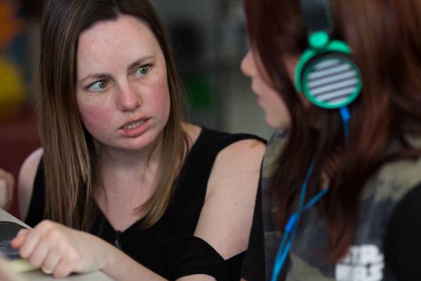
[[[358,67],[350,47],[331,40],[333,21],[328,0],[300,0],[309,47],[295,68],[295,88],[321,108],[342,108],[361,91]]]

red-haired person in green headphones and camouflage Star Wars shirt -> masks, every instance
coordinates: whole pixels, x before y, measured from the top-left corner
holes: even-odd
[[[419,280],[421,1],[244,0],[268,142],[247,281]]]

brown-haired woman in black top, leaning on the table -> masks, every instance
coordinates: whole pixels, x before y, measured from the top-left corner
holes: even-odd
[[[47,0],[21,256],[57,278],[239,280],[265,141],[184,122],[180,101],[147,0]]]

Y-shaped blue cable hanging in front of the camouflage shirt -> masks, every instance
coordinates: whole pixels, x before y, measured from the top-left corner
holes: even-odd
[[[315,165],[316,159],[313,159],[310,168],[307,172],[306,178],[304,180],[304,183],[301,187],[301,194],[300,194],[300,202],[298,211],[295,212],[290,216],[288,219],[288,222],[285,225],[284,228],[284,235],[282,236],[281,245],[279,246],[278,253],[276,255],[275,263],[274,263],[274,271],[272,273],[272,279],[271,281],[276,281],[278,279],[279,272],[281,271],[281,268],[285,262],[285,259],[288,255],[288,252],[290,250],[291,244],[293,243],[293,239],[295,236],[295,232],[297,230],[298,222],[300,220],[301,213],[305,210],[309,209],[311,206],[313,206],[318,199],[320,199],[323,195],[327,193],[327,188],[321,190],[319,193],[316,194],[305,206],[304,205],[304,197],[306,194],[307,189],[307,182],[310,178],[310,175],[313,171],[313,167]],[[288,238],[289,237],[289,238]],[[287,242],[288,239],[288,242]]]

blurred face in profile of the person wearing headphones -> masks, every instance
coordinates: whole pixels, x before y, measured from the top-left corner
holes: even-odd
[[[241,62],[241,71],[252,80],[252,90],[257,95],[257,104],[265,110],[266,123],[274,129],[289,129],[290,113],[280,94],[270,84],[270,79],[261,64],[257,51],[249,50]]]

